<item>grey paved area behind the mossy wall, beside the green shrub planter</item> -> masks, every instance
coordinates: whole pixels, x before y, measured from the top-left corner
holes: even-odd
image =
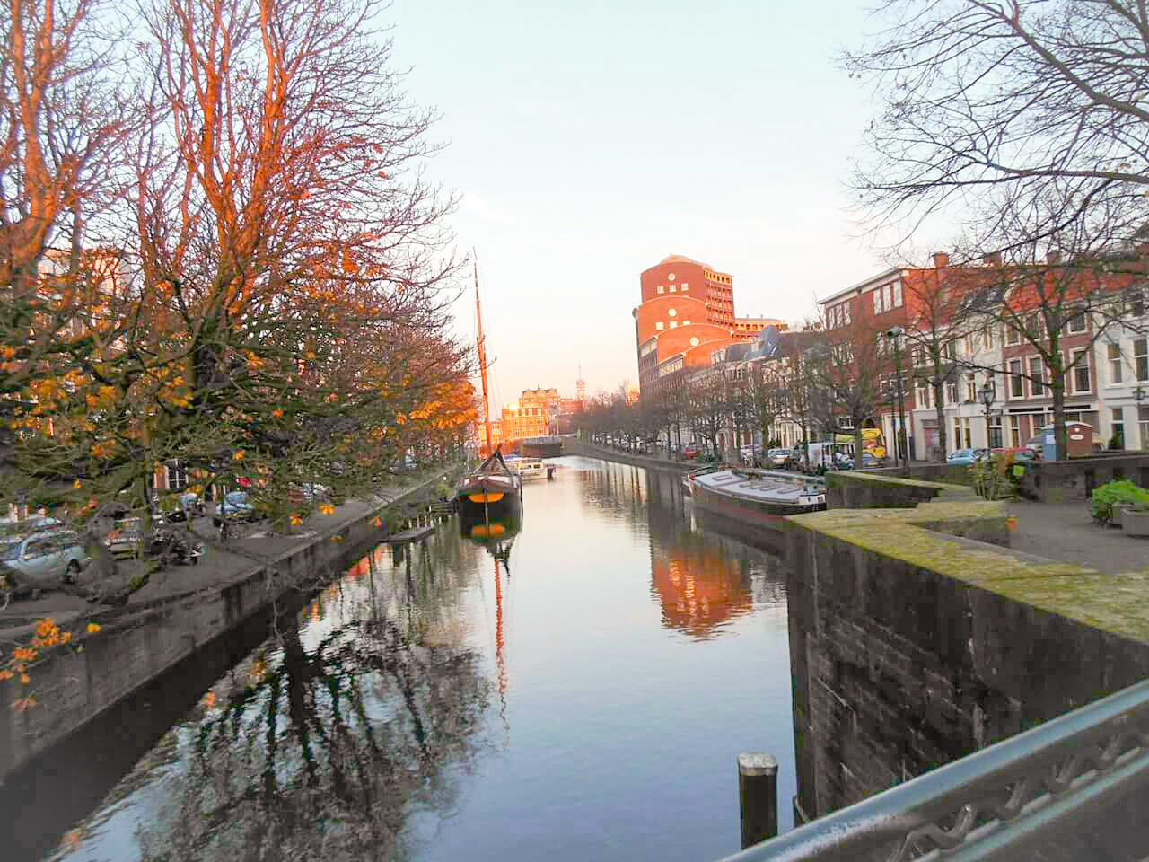
[[[1012,500],[1017,516],[1010,546],[1047,560],[1075,563],[1105,575],[1149,571],[1149,539],[1101,526],[1089,517],[1089,503],[1040,503]]]

